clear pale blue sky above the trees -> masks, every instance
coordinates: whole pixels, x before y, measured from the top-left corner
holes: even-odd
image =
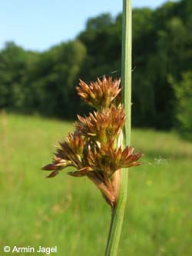
[[[165,0],[132,0],[134,7],[156,8]],[[44,51],[73,39],[88,18],[102,12],[117,15],[121,0],[0,0],[0,48],[14,41],[25,49]]]

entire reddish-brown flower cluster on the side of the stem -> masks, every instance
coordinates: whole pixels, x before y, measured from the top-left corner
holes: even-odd
[[[118,200],[119,177],[121,168],[140,165],[137,160],[141,153],[134,148],[118,145],[125,123],[123,106],[114,105],[114,99],[121,91],[120,79],[103,78],[102,81],[87,85],[80,81],[78,95],[98,111],[88,116],[78,115],[74,123],[74,134],[69,133],[66,141],[60,143],[55,157],[43,170],[51,171],[48,178],[55,177],[68,166],[75,171],[68,172],[74,177],[87,176],[100,189],[104,198],[114,207]]]

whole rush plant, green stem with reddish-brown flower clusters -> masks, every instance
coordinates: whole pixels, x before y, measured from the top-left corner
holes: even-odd
[[[78,115],[74,133],[61,141],[48,178],[69,166],[68,175],[87,177],[111,206],[111,227],[105,254],[116,255],[127,198],[127,170],[141,165],[141,153],[131,144],[131,1],[124,0],[121,79],[105,76],[86,84],[80,80],[78,95],[94,108],[88,116]],[[122,82],[121,82],[122,81]],[[122,83],[122,86],[121,86]],[[121,91],[123,92],[121,94]],[[122,97],[121,97],[122,95]]]

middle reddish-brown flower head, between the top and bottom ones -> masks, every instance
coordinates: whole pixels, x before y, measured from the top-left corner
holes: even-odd
[[[78,115],[78,120],[79,122],[74,125],[83,135],[95,140],[107,141],[108,138],[116,138],[124,127],[124,108],[111,105],[108,110],[104,108],[100,113],[94,111],[94,114],[90,113],[85,118]]]

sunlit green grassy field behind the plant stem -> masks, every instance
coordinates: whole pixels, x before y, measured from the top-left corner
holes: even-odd
[[[68,122],[0,115],[0,255],[5,245],[104,254],[110,208],[97,188],[65,171],[46,179],[40,170],[71,129]],[[130,170],[118,255],[192,255],[192,145],[174,133],[140,129],[132,145],[144,152],[144,165]]]

